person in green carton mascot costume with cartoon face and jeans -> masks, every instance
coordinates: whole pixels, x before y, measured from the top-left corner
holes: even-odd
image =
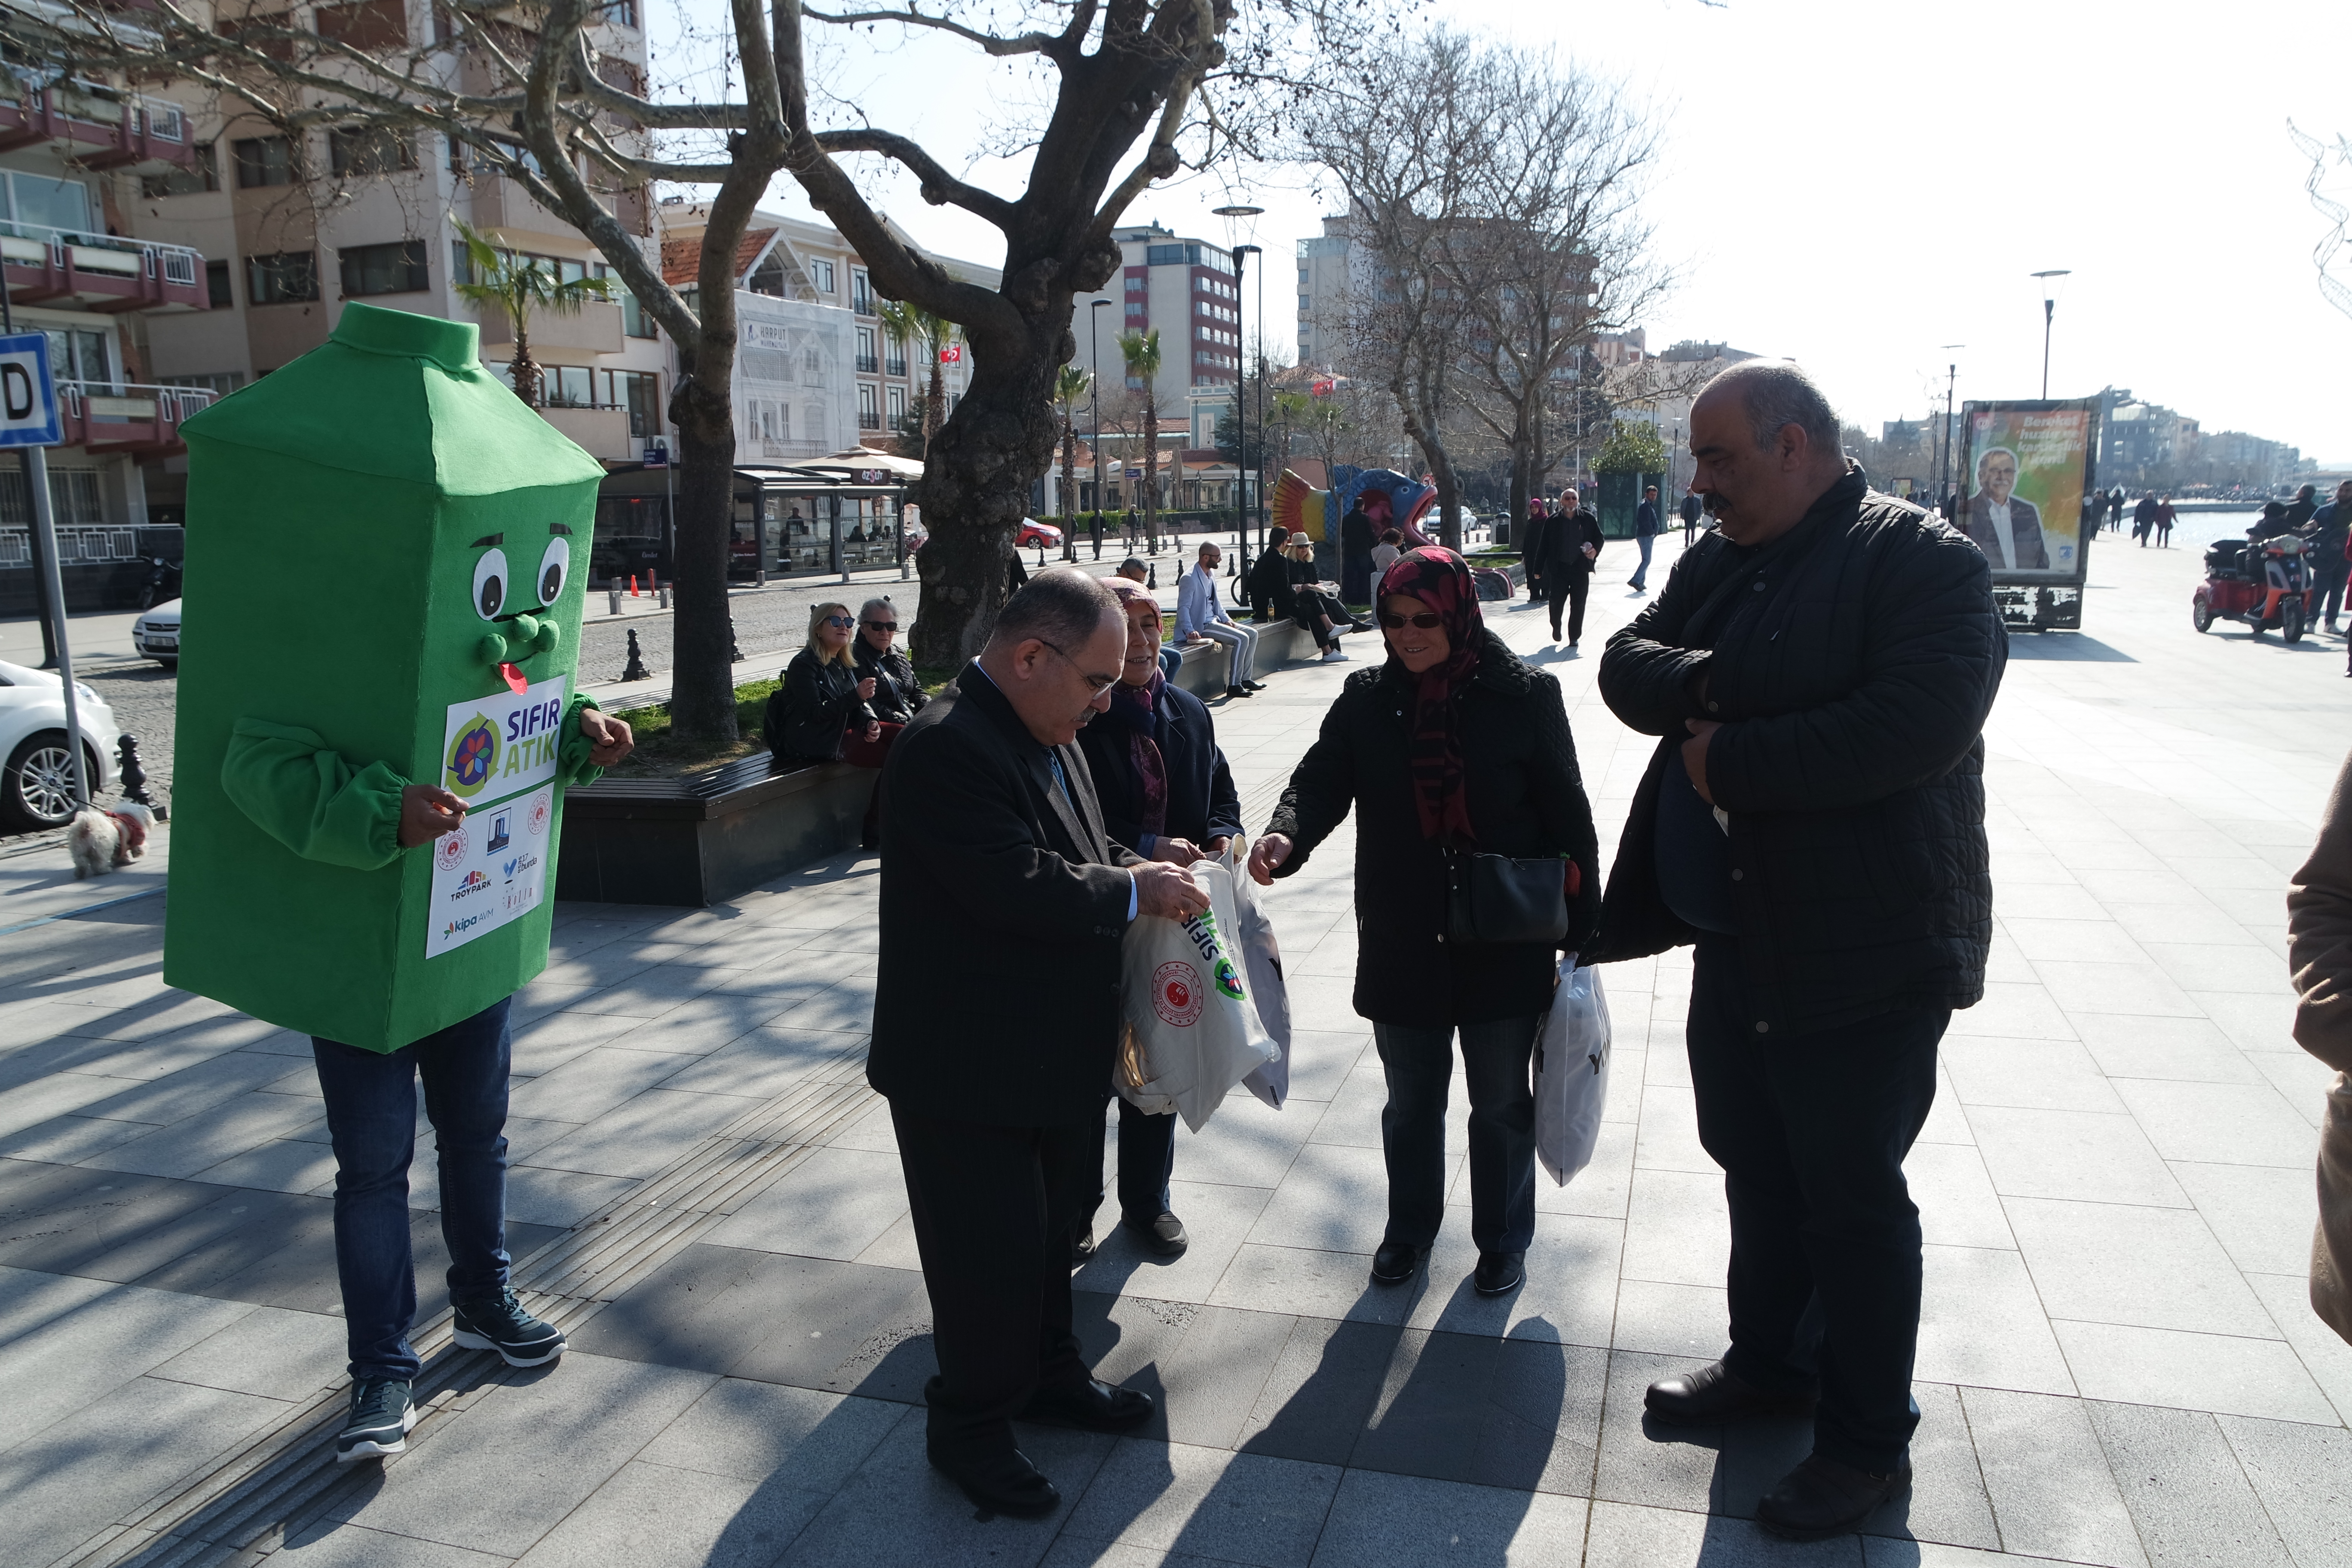
[[[419,1079],[456,1340],[562,1352],[506,1288],[506,1006],[548,961],[564,785],[628,750],[574,691],[602,468],[482,369],[475,327],[362,303],[186,437],[165,980],[313,1037],[336,1450],[397,1453]]]

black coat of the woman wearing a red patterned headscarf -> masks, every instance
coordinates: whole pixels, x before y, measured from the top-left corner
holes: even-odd
[[[1395,658],[1357,670],[1291,773],[1268,832],[1291,839],[1279,877],[1355,809],[1355,1011],[1374,1023],[1461,1025],[1541,1013],[1552,1004],[1559,957],[1550,947],[1439,943],[1446,917],[1444,851],[1421,837],[1406,771],[1411,675]],[[1562,950],[1583,947],[1599,914],[1599,846],[1576,771],[1559,682],[1486,632],[1477,675],[1454,698],[1463,717],[1470,830],[1496,856],[1569,856],[1578,893]]]

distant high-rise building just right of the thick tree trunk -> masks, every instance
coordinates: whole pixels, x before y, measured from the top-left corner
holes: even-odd
[[[1214,447],[1216,416],[1232,407],[1232,388],[1242,378],[1242,294],[1232,252],[1178,237],[1157,223],[1115,228],[1110,237],[1120,247],[1120,270],[1108,287],[1077,296],[1077,353],[1070,364],[1094,371],[1105,433],[1124,388],[1134,395],[1124,400],[1129,404],[1150,395],[1162,440]],[[1096,310],[1096,301],[1115,308]],[[1160,376],[1145,388],[1127,374],[1120,334],[1152,327],[1160,329]]]

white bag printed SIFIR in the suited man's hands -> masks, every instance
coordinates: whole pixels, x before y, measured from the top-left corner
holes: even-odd
[[[1232,945],[1232,872],[1197,860],[1192,879],[1209,910],[1185,922],[1138,917],[1127,929],[1122,1006],[1127,1037],[1115,1063],[1122,1098],[1145,1112],[1178,1112],[1195,1133],[1254,1067],[1279,1056],[1258,1020]]]

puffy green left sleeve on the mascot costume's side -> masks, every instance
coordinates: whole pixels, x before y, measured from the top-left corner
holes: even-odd
[[[360,872],[400,856],[407,783],[381,762],[350,766],[318,731],[266,719],[238,719],[221,762],[221,788],[261,832],[303,860]]]

